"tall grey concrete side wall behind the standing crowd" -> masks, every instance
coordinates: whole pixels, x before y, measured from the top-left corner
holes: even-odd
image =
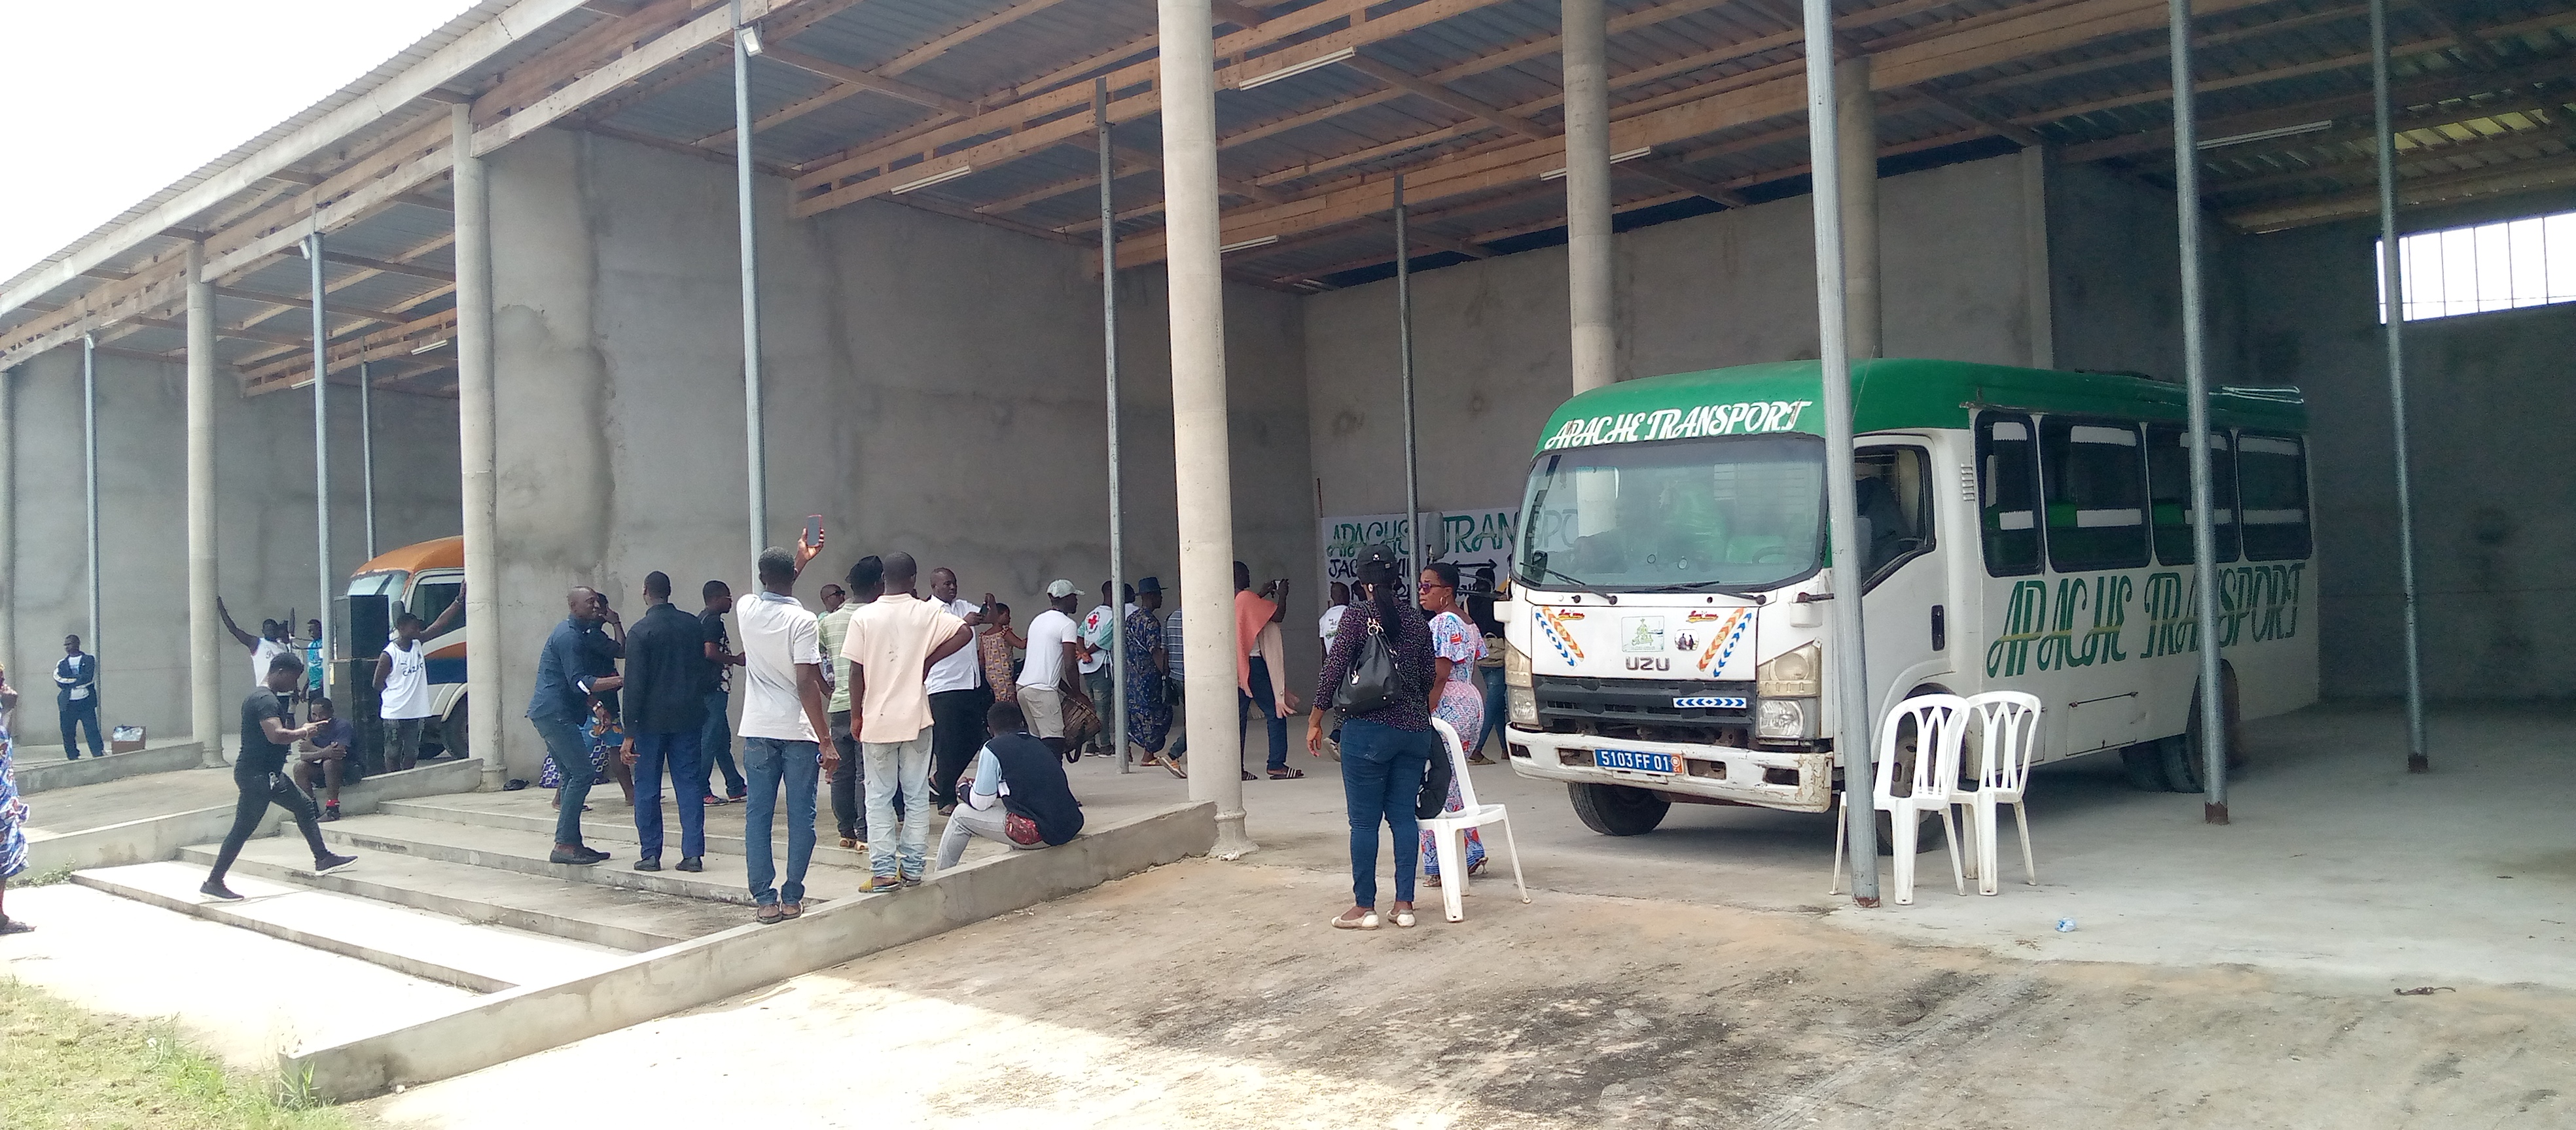
[[[811,600],[863,553],[953,566],[1018,623],[1056,577],[1108,577],[1100,288],[1082,247],[863,203],[786,221],[765,180],[765,541],[822,515]],[[732,170],[544,131],[492,160],[505,757],[567,584],[670,571],[680,605],[752,589]],[[1177,571],[1162,278],[1126,281],[1128,574]],[[1314,556],[1293,296],[1229,291],[1239,556]],[[1084,600],[1090,607],[1090,600]]]

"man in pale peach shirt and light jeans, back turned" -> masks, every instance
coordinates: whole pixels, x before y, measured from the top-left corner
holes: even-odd
[[[930,667],[974,641],[966,620],[912,595],[917,579],[912,553],[886,553],[886,595],[850,615],[842,644],[868,759],[868,891],[917,885],[930,865]]]

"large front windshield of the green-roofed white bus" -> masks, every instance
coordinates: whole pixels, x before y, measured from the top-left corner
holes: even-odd
[[[1770,589],[1819,566],[1824,440],[1723,435],[1551,450],[1530,466],[1522,584]]]

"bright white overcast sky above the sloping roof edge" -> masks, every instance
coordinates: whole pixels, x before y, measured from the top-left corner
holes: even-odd
[[[0,278],[392,59],[474,0],[0,0]]]

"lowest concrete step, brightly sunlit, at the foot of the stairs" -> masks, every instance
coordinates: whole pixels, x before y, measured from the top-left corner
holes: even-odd
[[[139,862],[72,875],[75,883],[167,911],[252,929],[314,950],[384,965],[415,978],[443,981],[477,994],[515,986],[551,986],[600,973],[623,952],[556,937],[477,927],[440,914],[389,906],[332,891],[232,875],[237,903],[198,893],[206,867]]]

